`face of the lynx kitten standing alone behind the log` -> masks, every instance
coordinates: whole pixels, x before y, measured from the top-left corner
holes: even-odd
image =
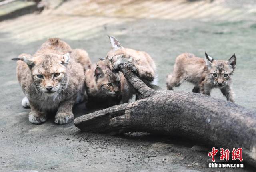
[[[236,56],[232,57],[228,61],[214,60],[212,57],[206,56],[206,65],[208,67],[208,83],[216,85],[218,87],[224,87],[231,81],[234,69],[236,68]]]

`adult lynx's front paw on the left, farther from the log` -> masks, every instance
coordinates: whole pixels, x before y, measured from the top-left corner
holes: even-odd
[[[41,124],[47,120],[45,112],[38,111],[32,103],[30,103],[31,112],[28,114],[28,120],[33,124]]]

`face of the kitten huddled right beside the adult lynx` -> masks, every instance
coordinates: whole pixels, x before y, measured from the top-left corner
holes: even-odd
[[[110,70],[102,70],[99,66],[94,71],[99,95],[102,97],[118,96],[120,93],[120,78]]]

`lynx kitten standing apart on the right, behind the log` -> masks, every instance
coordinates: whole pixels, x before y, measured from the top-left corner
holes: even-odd
[[[234,102],[232,75],[236,68],[236,55],[228,61],[214,60],[205,53],[205,60],[190,53],[183,53],[176,58],[173,73],[167,76],[167,89],[178,87],[183,81],[193,83],[194,93],[210,95],[213,88],[220,91],[228,101]]]

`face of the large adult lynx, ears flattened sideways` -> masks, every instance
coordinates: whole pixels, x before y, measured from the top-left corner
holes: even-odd
[[[52,96],[65,87],[69,54],[45,54],[33,58],[23,56],[21,60],[28,64],[38,91]]]

